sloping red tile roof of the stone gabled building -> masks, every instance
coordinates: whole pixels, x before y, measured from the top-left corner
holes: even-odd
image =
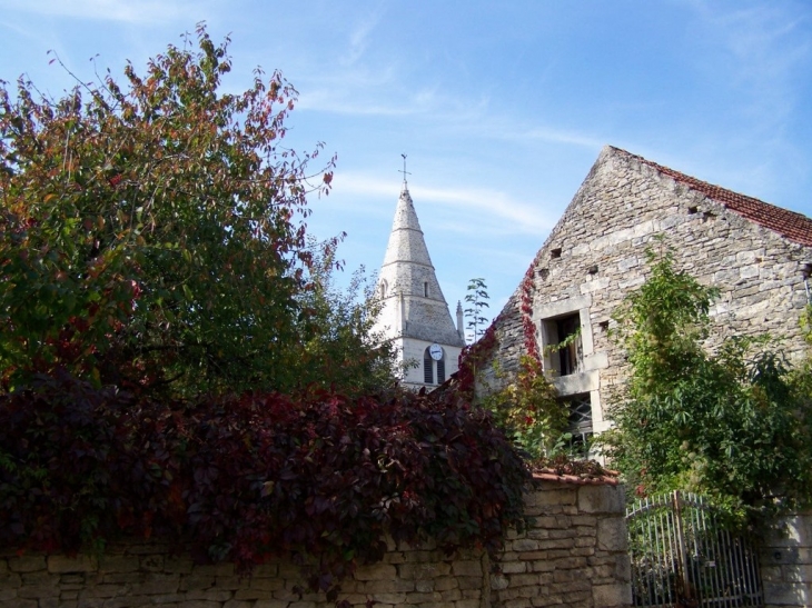
[[[753,197],[740,195],[739,192],[692,178],[691,176],[674,171],[673,169],[646,160],[643,157],[632,155],[625,150],[620,150],[618,148],[615,148],[615,150],[637,159],[643,165],[656,169],[680,183],[684,183],[689,188],[720,202],[726,209],[739,213],[759,226],[769,228],[791,241],[812,247],[812,219],[802,213],[782,209],[781,207],[775,207]]]

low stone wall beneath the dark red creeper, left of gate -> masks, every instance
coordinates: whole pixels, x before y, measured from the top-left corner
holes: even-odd
[[[447,557],[432,547],[392,546],[362,567],[339,599],[378,608],[521,608],[631,605],[623,489],[537,481],[527,494],[526,531],[507,541],[498,572],[487,556]],[[323,594],[298,594],[299,570],[263,565],[249,578],[228,564],[195,565],[161,542],[122,542],[101,558],[0,554],[0,608],[321,608]]]

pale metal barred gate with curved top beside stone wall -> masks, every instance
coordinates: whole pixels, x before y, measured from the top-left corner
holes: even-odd
[[[762,606],[759,559],[749,540],[717,525],[691,492],[646,498],[626,509],[635,606]]]

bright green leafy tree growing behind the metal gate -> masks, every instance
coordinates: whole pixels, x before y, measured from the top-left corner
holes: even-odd
[[[615,318],[630,377],[598,441],[638,494],[690,489],[731,512],[809,504],[812,419],[775,341],[703,348],[717,296],[648,252],[652,270]]]

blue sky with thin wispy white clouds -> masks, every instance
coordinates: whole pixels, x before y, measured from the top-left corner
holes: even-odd
[[[206,21],[227,82],[279,69],[293,140],[338,155],[311,232],[348,268],[383,261],[409,189],[452,309],[516,288],[604,144],[812,216],[806,0],[0,0],[0,79],[58,94],[89,58],[120,73]]]

